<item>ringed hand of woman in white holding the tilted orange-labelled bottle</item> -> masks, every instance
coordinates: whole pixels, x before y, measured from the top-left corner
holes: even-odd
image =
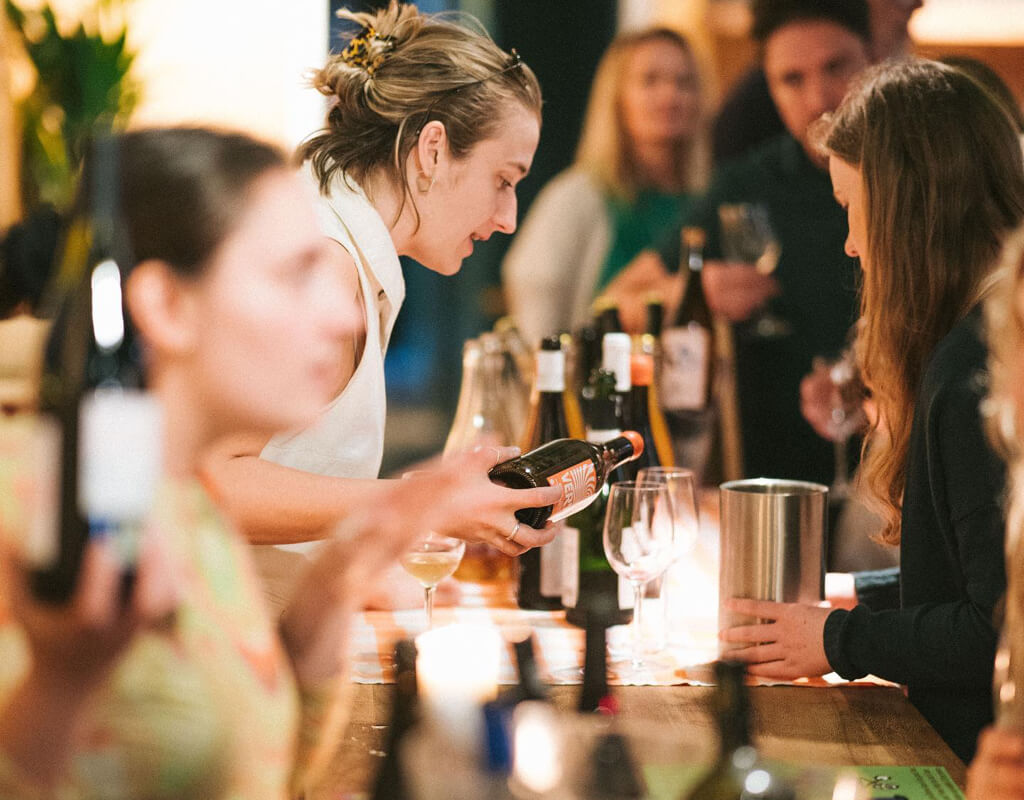
[[[450,492],[438,494],[439,519],[432,530],[467,542],[484,542],[507,555],[520,555],[554,539],[551,525],[537,531],[519,524],[515,512],[553,505],[562,495],[560,489],[508,489],[487,477],[495,464],[518,455],[518,448],[483,447],[459,456],[460,479],[449,487]],[[451,469],[447,462],[445,469]]]

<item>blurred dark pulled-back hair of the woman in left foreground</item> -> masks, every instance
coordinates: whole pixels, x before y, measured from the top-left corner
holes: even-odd
[[[269,144],[206,128],[138,130],[119,144],[121,209],[135,262],[159,259],[186,276],[199,275],[238,224],[252,183],[287,165]]]

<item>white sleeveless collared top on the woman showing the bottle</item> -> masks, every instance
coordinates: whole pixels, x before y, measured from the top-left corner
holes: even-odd
[[[354,181],[346,184],[336,174],[328,194],[323,195],[308,165],[303,169],[305,178],[316,190],[321,228],[355,262],[367,340],[355,372],[341,394],[309,427],[271,438],[260,458],[321,475],[375,478],[384,453],[384,355],[406,297],[406,282],[384,220]],[[281,547],[308,551],[316,544]]]

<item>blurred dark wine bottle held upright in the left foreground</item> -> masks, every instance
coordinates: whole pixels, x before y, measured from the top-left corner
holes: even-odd
[[[122,297],[132,256],[115,139],[97,139],[88,174],[89,202],[71,225],[50,293],[59,311],[40,386],[59,467],[55,518],[34,531],[30,561],[33,591],[52,603],[74,593],[90,537],[112,543],[127,589],[162,465],[161,411],[144,391],[142,353]]]

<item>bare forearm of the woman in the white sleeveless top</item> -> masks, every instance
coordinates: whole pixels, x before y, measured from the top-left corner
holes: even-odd
[[[387,483],[317,475],[256,456],[213,457],[204,467],[218,504],[253,544],[323,539]]]

